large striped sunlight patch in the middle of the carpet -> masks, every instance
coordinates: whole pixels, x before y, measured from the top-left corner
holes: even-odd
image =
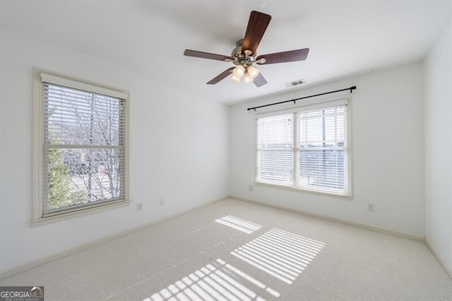
[[[273,228],[231,254],[292,284],[324,246],[323,242]]]

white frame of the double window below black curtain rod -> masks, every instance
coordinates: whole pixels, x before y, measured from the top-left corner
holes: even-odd
[[[344,163],[344,167],[346,169],[345,175],[347,177],[347,191],[344,191],[343,193],[335,192],[335,191],[325,191],[322,189],[309,189],[307,187],[297,187],[297,178],[299,173],[299,118],[298,113],[303,111],[309,111],[309,110],[321,110],[321,109],[328,109],[331,107],[337,107],[338,105],[346,105],[346,112],[345,112],[345,134],[346,134],[346,141],[347,145],[345,148],[345,154],[347,156],[346,163]],[[269,117],[269,116],[278,116],[282,114],[293,114],[293,148],[292,148],[292,183],[291,184],[274,184],[274,183],[267,183],[267,182],[259,182],[258,180],[258,119],[262,117]],[[309,102],[306,102],[304,105],[298,105],[297,107],[292,107],[290,109],[283,109],[283,110],[274,110],[274,111],[266,111],[262,113],[256,113],[256,117],[254,120],[254,133],[255,133],[255,141],[254,141],[254,156],[255,156],[255,172],[254,172],[254,183],[259,186],[264,187],[275,187],[280,189],[289,189],[292,191],[306,191],[314,194],[321,194],[321,195],[332,195],[332,196],[344,196],[344,197],[352,197],[352,107],[351,107],[351,98],[335,98],[335,99],[321,99],[321,100],[310,100]]]

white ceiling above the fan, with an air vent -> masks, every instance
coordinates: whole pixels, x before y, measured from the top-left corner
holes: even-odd
[[[306,61],[259,66],[268,84],[206,85],[231,63],[252,10],[272,16],[258,54],[310,48]],[[126,64],[209,99],[233,104],[422,59],[452,18],[452,0],[426,1],[0,1],[0,26],[76,52]],[[291,88],[293,89],[293,88]]]

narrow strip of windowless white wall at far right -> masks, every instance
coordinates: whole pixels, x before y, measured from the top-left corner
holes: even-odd
[[[452,273],[452,21],[424,68],[426,238]]]

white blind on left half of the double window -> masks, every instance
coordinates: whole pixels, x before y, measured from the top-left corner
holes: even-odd
[[[292,186],[293,114],[257,119],[257,181]]]

